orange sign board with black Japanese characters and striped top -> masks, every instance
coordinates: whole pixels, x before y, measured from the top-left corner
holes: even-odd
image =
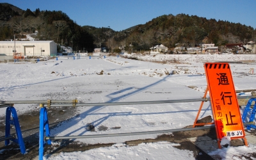
[[[236,90],[228,63],[205,63],[217,138],[244,138],[244,128]]]

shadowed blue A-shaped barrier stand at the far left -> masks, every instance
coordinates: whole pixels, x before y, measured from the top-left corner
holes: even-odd
[[[11,113],[12,113],[12,119],[13,120],[11,120]],[[20,124],[19,124],[17,112],[16,112],[15,108],[13,108],[12,106],[6,108],[5,137],[10,136],[11,124],[15,126],[15,130],[16,130],[16,134],[17,134],[18,139],[12,138],[10,140],[15,142],[15,143],[18,143],[19,146],[20,146],[20,152],[22,154],[26,154],[26,148],[25,148],[25,145],[24,145],[24,141],[23,141],[23,138],[22,138],[21,131],[20,131]],[[9,145],[10,140],[5,140],[5,145]]]

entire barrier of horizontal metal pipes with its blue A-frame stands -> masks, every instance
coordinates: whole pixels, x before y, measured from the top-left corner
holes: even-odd
[[[237,97],[237,99],[255,99],[255,96],[248,96],[248,97]],[[178,102],[207,102],[211,100],[209,98],[202,98],[202,99],[181,99],[181,100],[156,100],[156,101],[143,101],[143,102],[106,102],[106,103],[77,103],[77,99],[73,100],[12,100],[12,101],[0,101],[0,108],[6,108],[6,132],[5,137],[1,138],[0,141],[5,141],[5,145],[10,143],[12,140],[15,143],[19,143],[20,152],[22,154],[26,154],[26,149],[24,146],[24,141],[22,138],[22,134],[20,131],[19,120],[17,117],[17,113],[15,108],[13,108],[13,104],[40,104],[40,124],[39,124],[39,159],[43,159],[44,156],[44,146],[46,144],[51,145],[51,140],[63,140],[63,139],[74,139],[74,138],[99,138],[99,137],[112,137],[112,136],[131,136],[131,135],[141,135],[141,134],[156,134],[156,133],[164,133],[164,132],[178,132],[178,131],[191,131],[191,130],[199,130],[199,129],[209,129],[214,127],[205,126],[205,127],[195,127],[195,128],[186,128],[186,129],[169,129],[169,130],[162,130],[162,131],[147,131],[147,132],[128,132],[128,133],[117,133],[117,134],[95,134],[95,135],[84,135],[84,136],[50,136],[50,129],[49,129],[49,122],[47,118],[47,108],[50,107],[78,107],[78,106],[123,106],[123,105],[131,105],[131,104],[164,104],[164,103],[178,103]],[[252,100],[249,100],[250,104]],[[248,103],[249,103],[248,102]],[[250,106],[248,104],[247,106]],[[246,115],[250,108],[247,108],[246,112],[243,115],[243,122],[245,121]],[[47,107],[47,108],[46,108]],[[255,116],[256,111],[256,104],[252,110],[253,118]],[[11,120],[10,115],[12,113],[13,120]],[[246,126],[250,126],[253,128],[255,124],[253,123],[252,116],[250,117],[250,122],[244,123]],[[15,136],[10,134],[10,124],[15,125],[17,139]],[[44,136],[45,135],[45,136]]]

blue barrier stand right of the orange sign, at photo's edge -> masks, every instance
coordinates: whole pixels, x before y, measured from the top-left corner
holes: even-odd
[[[253,101],[255,102],[255,104],[253,106],[253,109],[251,109],[250,107],[251,107]],[[249,111],[252,111],[249,122],[253,122],[253,120],[255,118],[255,114],[256,114],[256,98],[252,98],[252,99],[248,100],[246,107],[244,108],[244,113],[242,115],[242,122],[245,122],[246,116]],[[250,130],[251,128],[256,129],[256,125],[250,124],[250,125],[246,126],[246,129],[248,129],[248,130]]]

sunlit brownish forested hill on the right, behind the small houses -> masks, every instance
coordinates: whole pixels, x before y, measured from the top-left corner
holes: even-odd
[[[196,15],[162,15],[140,24],[135,29],[121,31],[113,36],[119,45],[132,44],[134,49],[146,49],[157,44],[175,47],[184,44],[193,47],[202,43],[255,42],[256,30],[251,26],[223,20],[205,19]]]

